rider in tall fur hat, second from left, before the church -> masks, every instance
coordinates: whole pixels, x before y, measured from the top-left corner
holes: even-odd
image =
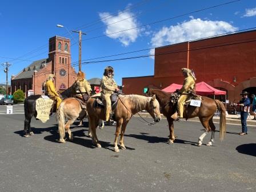
[[[77,74],[77,80],[75,81],[75,97],[82,99],[86,102],[91,94],[91,86],[85,79],[85,74],[79,71]]]

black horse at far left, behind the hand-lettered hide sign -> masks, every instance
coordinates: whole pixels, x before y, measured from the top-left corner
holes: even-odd
[[[73,95],[74,95],[74,86],[69,87],[69,89],[66,89],[61,93],[61,97],[63,99],[68,97],[73,97]],[[30,127],[30,122],[33,116],[37,117],[37,111],[35,110],[35,101],[40,97],[41,95],[30,95],[24,101],[24,111],[25,111],[25,121],[24,121],[25,135],[24,136],[25,137],[29,137],[29,135],[33,135],[33,131],[31,130],[31,127]]]

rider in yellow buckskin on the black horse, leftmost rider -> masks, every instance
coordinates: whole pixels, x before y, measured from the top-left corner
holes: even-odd
[[[47,81],[46,81],[46,84],[45,84],[45,89],[46,89],[46,95],[48,97],[50,97],[51,99],[54,99],[57,101],[56,103],[56,110],[59,109],[59,105],[61,105],[61,97],[59,97],[59,94],[56,92],[55,90],[55,86],[54,86],[54,78],[55,78],[55,75],[54,74],[50,74],[48,75],[48,78],[47,78]]]

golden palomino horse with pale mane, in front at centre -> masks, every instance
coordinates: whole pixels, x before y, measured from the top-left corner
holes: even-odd
[[[101,147],[101,144],[99,144],[99,141],[96,135],[96,127],[98,125],[99,119],[105,119],[105,113],[104,113],[104,109],[94,107],[94,102],[95,102],[95,98],[90,98],[87,102],[87,113],[89,115],[89,134],[91,131],[93,143],[95,143],[97,147]],[[117,126],[115,130],[115,141],[114,141],[115,152],[119,152],[119,149],[117,146],[117,140],[118,140],[120,131],[121,131],[121,137],[120,137],[119,143],[121,145],[121,149],[126,149],[125,144],[123,143],[123,134],[125,134],[127,123],[130,121],[131,117],[134,114],[142,110],[147,110],[150,113],[151,117],[154,118],[155,122],[159,122],[161,120],[159,103],[157,99],[155,99],[155,96],[153,97],[145,97],[142,95],[119,95],[118,96],[117,107],[113,111],[115,121],[117,121]]]

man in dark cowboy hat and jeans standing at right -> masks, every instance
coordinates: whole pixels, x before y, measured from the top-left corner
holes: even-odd
[[[239,103],[237,103],[236,105],[240,106],[240,110],[241,110],[241,124],[242,124],[242,132],[239,133],[239,135],[245,135],[247,134],[247,117],[248,117],[248,113],[250,111],[250,99],[248,98],[248,94],[247,91],[242,91],[242,93],[240,95],[242,95],[242,99],[239,101]]]

